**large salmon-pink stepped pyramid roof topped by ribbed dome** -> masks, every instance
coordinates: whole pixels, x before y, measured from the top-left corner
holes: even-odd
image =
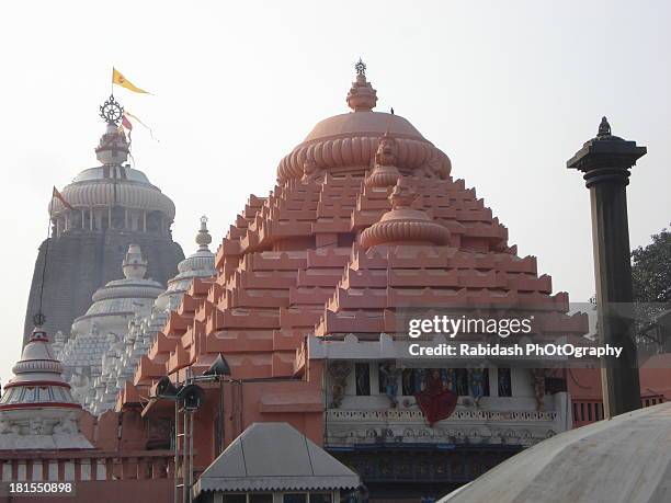
[[[568,295],[553,294],[536,259],[518,256],[491,209],[453,179],[448,157],[405,118],[374,112],[376,99],[357,68],[352,112],[318,124],[280,162],[268,197],[250,196],[217,250],[214,283],[193,282],[120,407],[223,353],[235,379],[284,379],[282,391],[259,385],[268,421],[321,421],[322,367],[310,366],[306,338],[407,338],[400,320],[412,309],[515,311],[534,316],[530,336],[587,332],[585,316],[567,315]]]

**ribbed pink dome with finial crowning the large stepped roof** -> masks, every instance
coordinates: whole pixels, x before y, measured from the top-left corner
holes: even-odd
[[[305,140],[282,159],[277,180],[300,179],[307,173],[315,175],[319,170],[363,174],[372,167],[377,144],[385,133],[396,138],[397,167],[402,174],[421,170],[429,176],[446,179],[451,163],[445,153],[406,118],[394,113],[373,112],[377,91],[366,80],[365,65],[360,64],[346,98],[353,112],[319,122]]]

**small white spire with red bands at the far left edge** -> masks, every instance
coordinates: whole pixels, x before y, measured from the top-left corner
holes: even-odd
[[[0,400],[0,450],[92,448],[78,431],[81,407],[44,330],[33,331],[12,370]]]

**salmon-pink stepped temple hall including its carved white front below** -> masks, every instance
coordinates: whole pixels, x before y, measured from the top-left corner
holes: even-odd
[[[532,312],[538,338],[580,335],[587,319],[567,315],[568,296],[551,294],[535,258],[516,255],[445,153],[373,110],[376,91],[356,70],[351,112],[318,123],[280,162],[272,192],[250,196],[216,278],[194,282],[117,409],[171,421],[172,403],[138,397],[221,354],[231,379],[221,395],[203,385],[196,471],[219,453],[221,431],[226,445],[254,422],[287,422],[354,468],[372,496],[444,493],[569,428],[568,396],[560,384],[546,392],[551,380],[531,368],[410,368],[403,315]]]

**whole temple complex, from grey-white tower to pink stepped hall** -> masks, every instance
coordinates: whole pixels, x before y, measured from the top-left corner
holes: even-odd
[[[52,470],[82,482],[80,498],[104,487],[127,501],[134,491],[419,501],[600,419],[594,369],[409,357],[412,318],[524,318],[523,341],[541,343],[582,339],[588,316],[570,313],[534,256],[518,255],[446,153],[394,111],[374,110],[361,60],[355,71],[350,111],[280,161],[272,190],[249,196],[216,253],[203,218],[186,259],[170,237],[174,206],[124,164],[121,105],[104,105],[102,165],[50,208],[29,313],[48,248],[43,311],[53,321],[32,332],[5,386],[3,480]],[[49,379],[26,374],[41,358]],[[54,400],[65,412],[41,412],[45,426],[13,412]],[[60,445],[38,457],[2,450],[41,427],[86,442],[67,456]]]

